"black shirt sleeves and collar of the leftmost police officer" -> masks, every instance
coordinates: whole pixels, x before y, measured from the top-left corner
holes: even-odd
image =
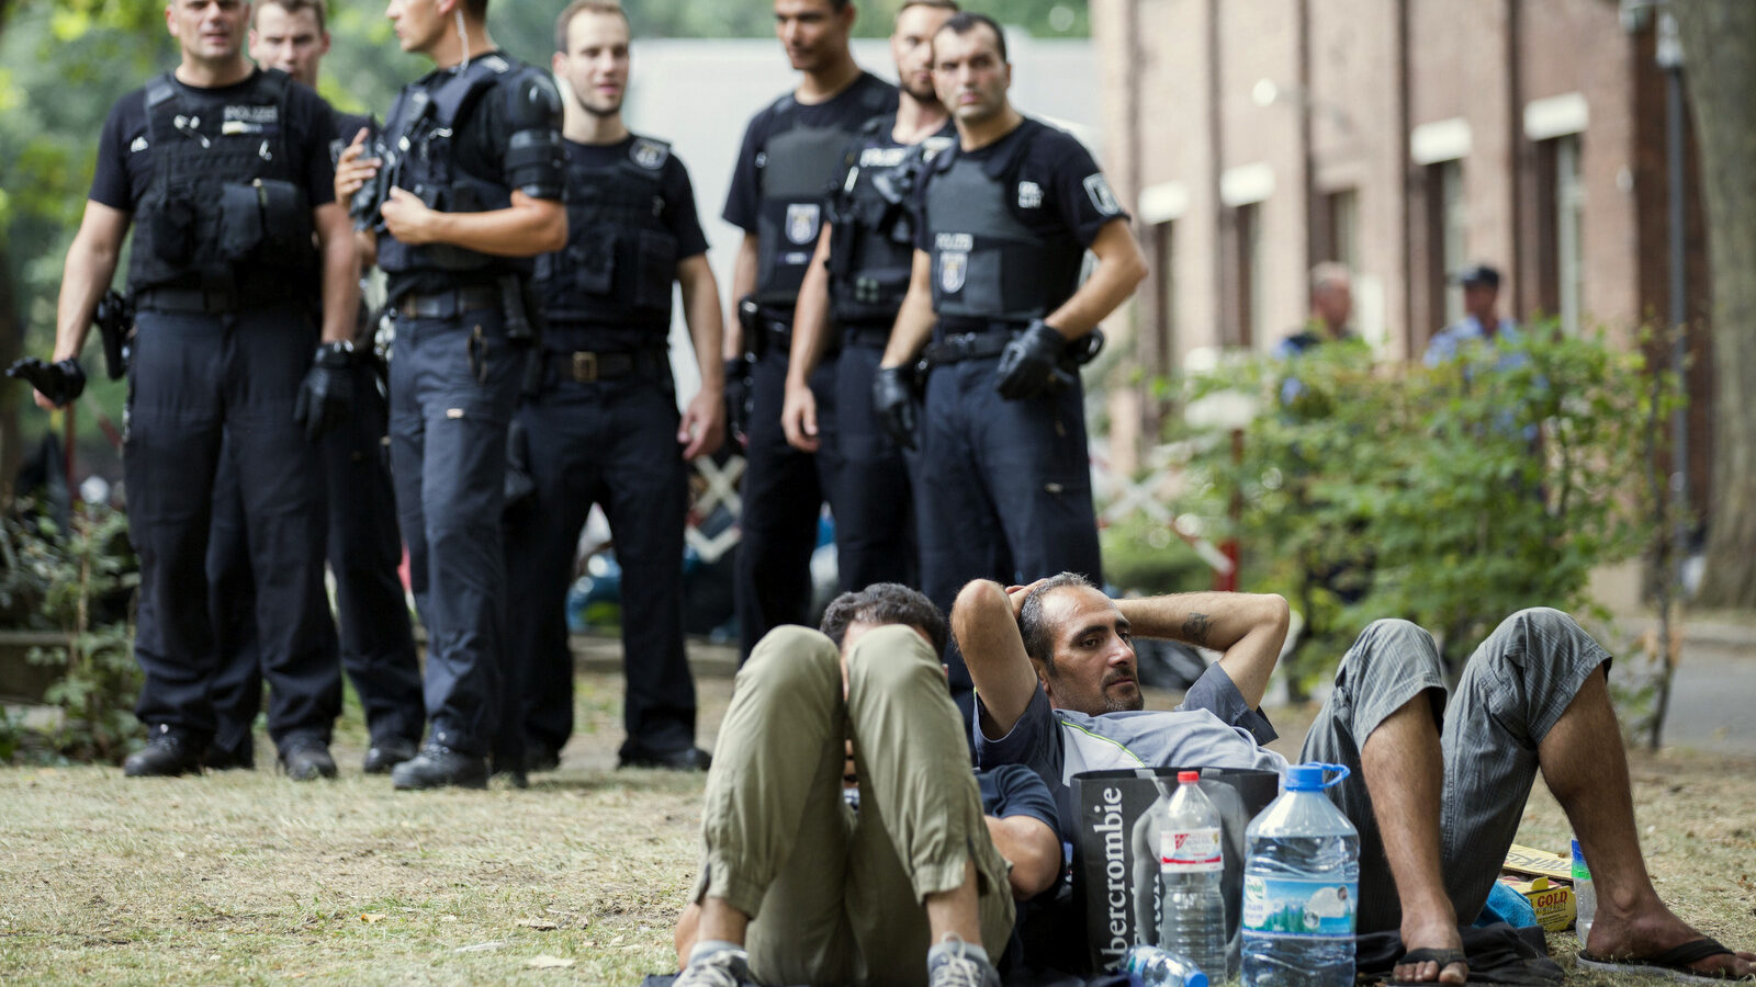
[[[242,83],[202,88],[176,83],[183,93],[207,102],[235,98],[248,90],[260,68]],[[133,213],[153,184],[153,149],[148,139],[146,88],[139,88],[111,107],[109,119],[98,133],[98,162],[91,176],[91,200]],[[306,177],[304,190],[311,207],[335,202],[335,165],[327,153],[330,133],[335,132],[330,105],[314,90],[300,84],[286,88],[286,151],[293,155],[293,172]]]

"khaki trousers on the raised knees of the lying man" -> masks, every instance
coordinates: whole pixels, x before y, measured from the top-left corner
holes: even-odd
[[[853,741],[860,808],[841,797]],[[975,861],[982,945],[1011,934],[1010,864],[989,839],[962,717],[932,648],[880,627],[848,655],[778,627],[738,673],[702,810],[694,901],[752,917],[750,971],[771,985],[920,985],[925,896],[952,890]]]

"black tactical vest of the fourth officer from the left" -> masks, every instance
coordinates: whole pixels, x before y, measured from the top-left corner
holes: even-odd
[[[676,237],[664,223],[671,146],[634,137],[611,165],[567,162],[567,248],[537,256],[536,290],[555,325],[671,328]]]

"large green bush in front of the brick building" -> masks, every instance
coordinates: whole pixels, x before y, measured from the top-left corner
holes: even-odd
[[[1199,444],[1180,509],[1240,541],[1240,587],[1305,615],[1303,683],[1380,616],[1438,634],[1456,673],[1515,609],[1593,609],[1589,573],[1651,539],[1649,425],[1680,400],[1638,351],[1552,325],[1436,369],[1331,344],[1187,385],[1219,392],[1259,411],[1241,455]]]

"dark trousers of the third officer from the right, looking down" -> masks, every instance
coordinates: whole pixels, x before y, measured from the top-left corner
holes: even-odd
[[[750,374],[750,444],[745,448],[743,511],[734,566],[738,660],[781,623],[804,623],[811,609],[811,551],[824,502],[834,509],[841,451],[836,432],[836,365],[829,357],[811,371],[822,446],[801,453],[787,444],[780,413],[787,400],[788,334],[774,330],[767,353]],[[866,400],[871,400],[869,397]]]

